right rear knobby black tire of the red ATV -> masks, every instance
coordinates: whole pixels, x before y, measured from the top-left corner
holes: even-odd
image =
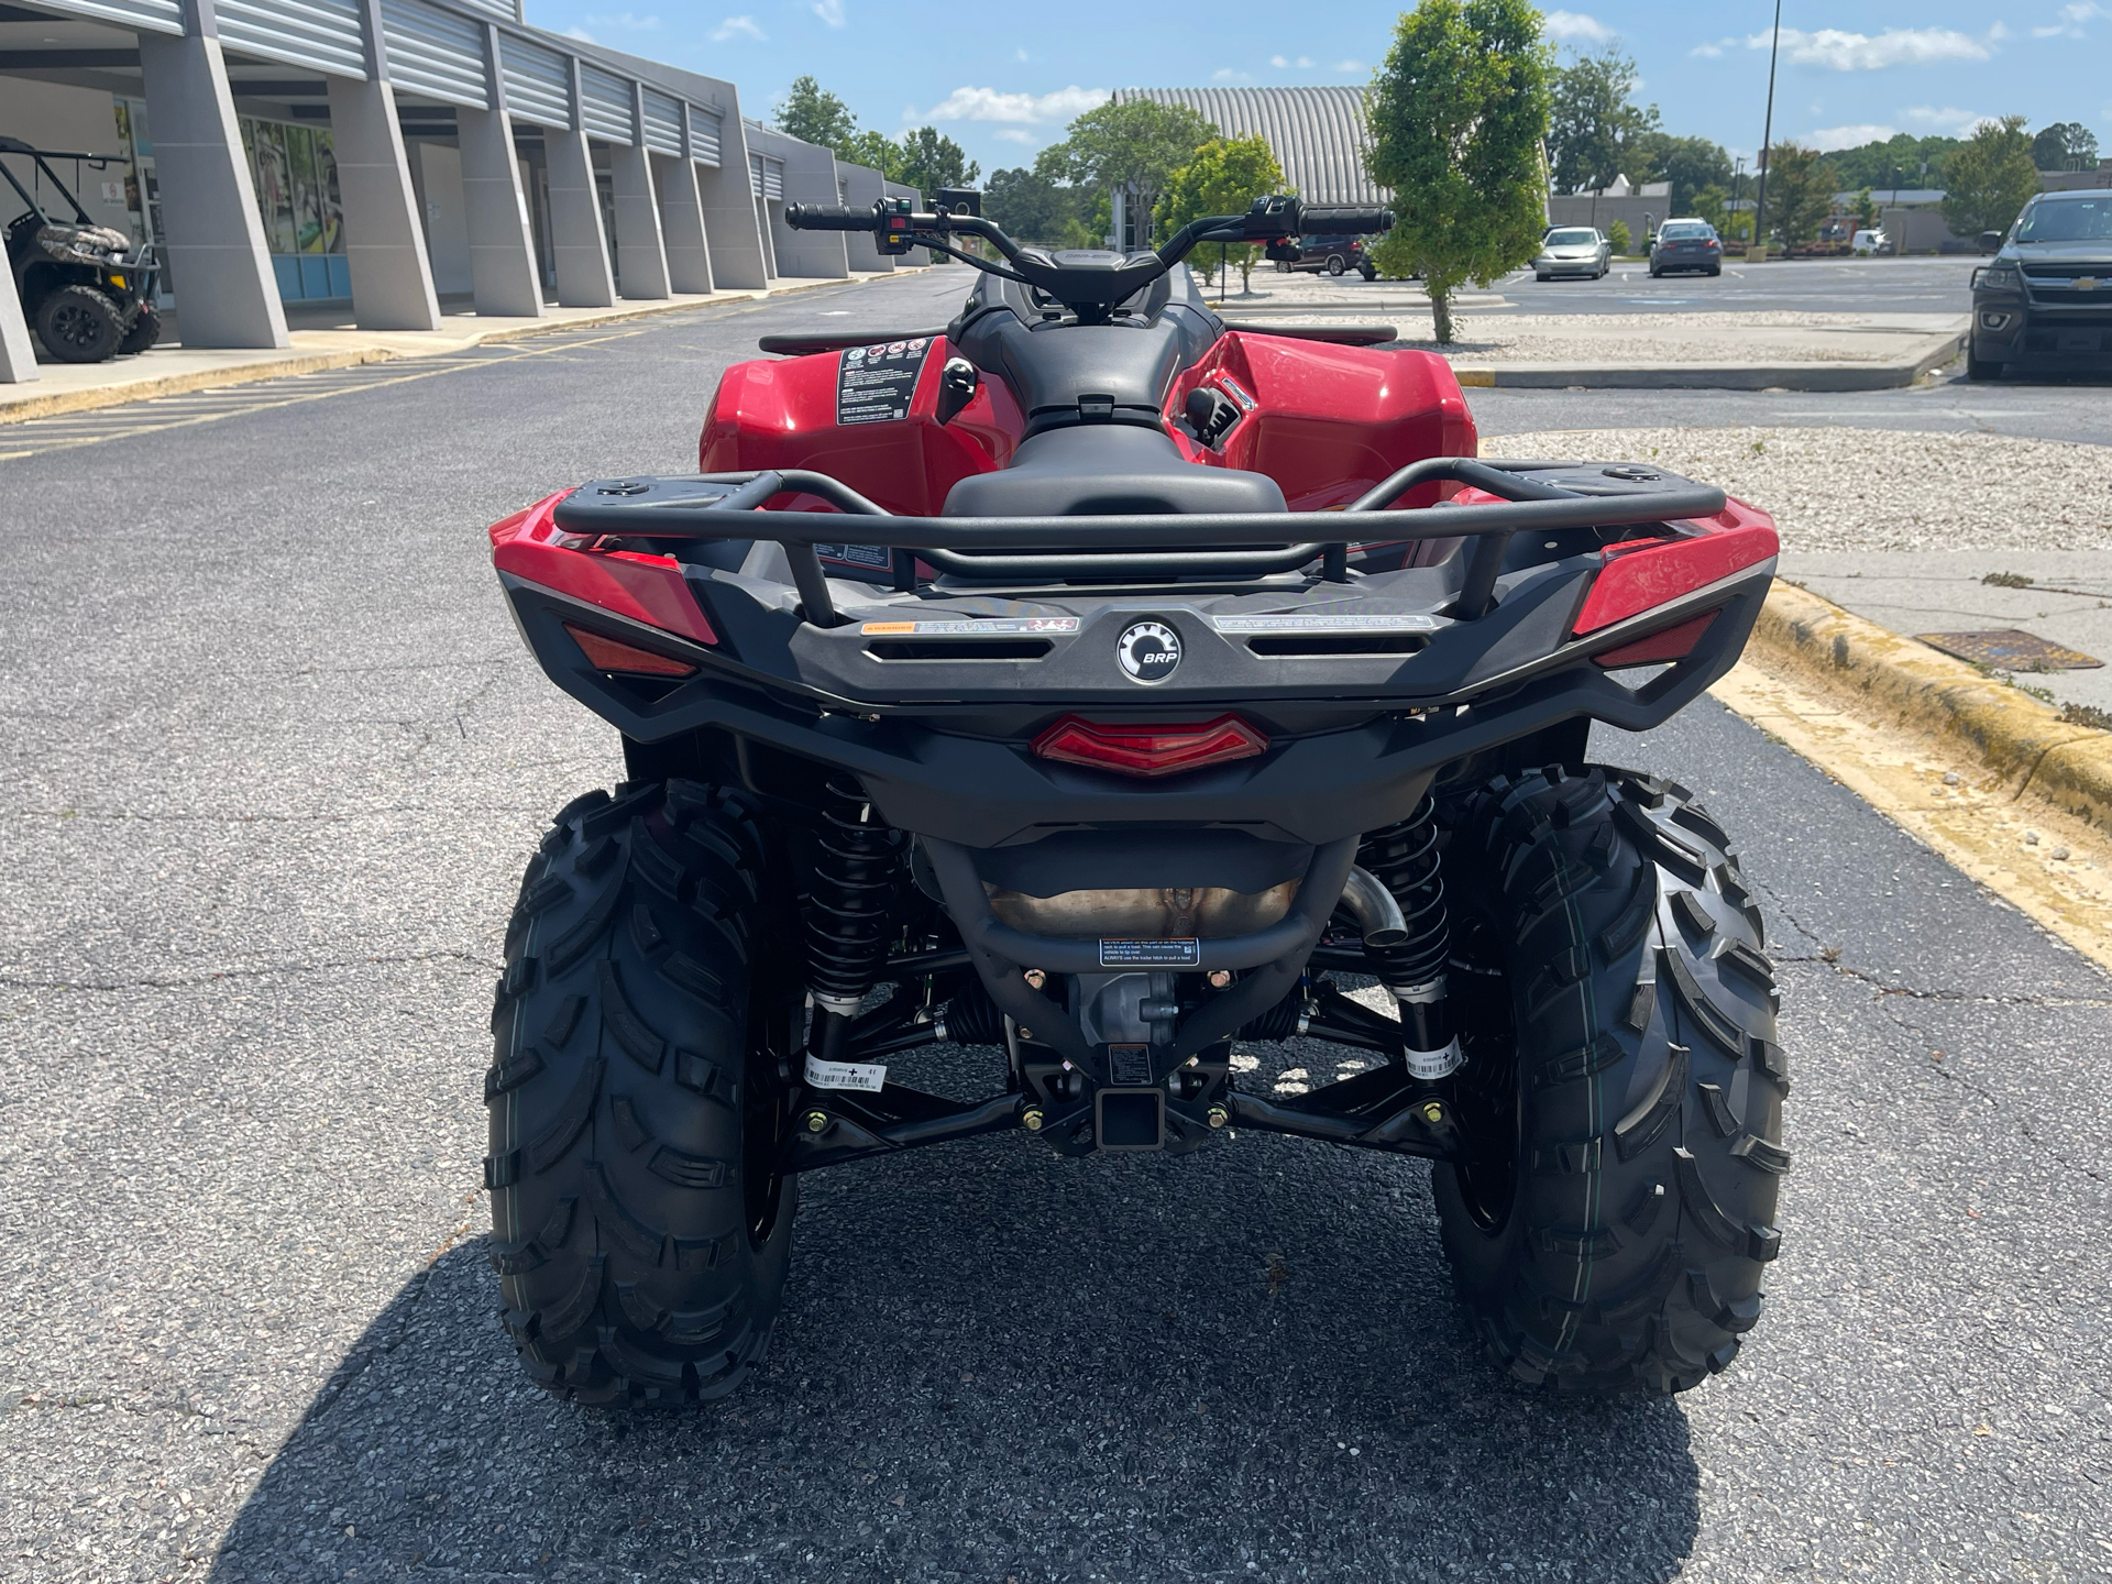
[[[1738,860],[1683,788],[1584,767],[1497,779],[1447,870],[1459,1105],[1502,1140],[1434,1172],[1468,1320],[1521,1381],[1683,1392],[1759,1320],[1789,1168]]]

